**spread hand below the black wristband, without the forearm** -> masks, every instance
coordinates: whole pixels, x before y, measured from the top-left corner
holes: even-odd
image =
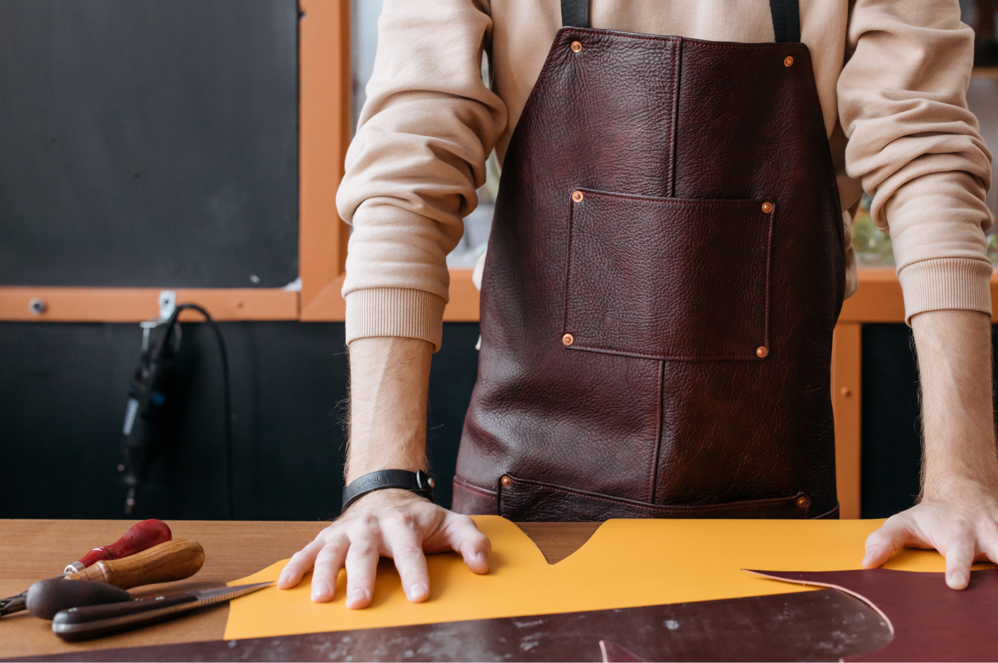
[[[339,570],[346,568],[346,607],[367,607],[374,596],[380,557],[391,557],[406,597],[414,603],[430,595],[424,554],[453,550],[475,573],[488,573],[492,543],[467,515],[437,506],[400,489],[375,491],[353,502],[346,512],[294,553],[280,572],[277,586],[294,587],[314,568],[311,599],[331,601]]]

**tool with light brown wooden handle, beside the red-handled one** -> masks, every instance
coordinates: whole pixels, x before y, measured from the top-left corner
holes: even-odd
[[[205,563],[201,543],[175,538],[122,559],[102,559],[67,580],[90,580],[131,589],[144,584],[189,578]]]

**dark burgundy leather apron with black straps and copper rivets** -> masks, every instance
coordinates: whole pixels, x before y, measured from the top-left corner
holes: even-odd
[[[777,42],[742,44],[563,0],[503,165],[455,510],[837,515],[841,212],[796,0],[770,4]]]

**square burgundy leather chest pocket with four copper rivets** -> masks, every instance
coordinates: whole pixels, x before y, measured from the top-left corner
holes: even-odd
[[[767,200],[572,194],[562,342],[681,361],[769,354]]]

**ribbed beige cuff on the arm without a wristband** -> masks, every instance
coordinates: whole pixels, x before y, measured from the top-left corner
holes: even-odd
[[[991,264],[974,258],[934,258],[907,265],[897,277],[904,321],[924,311],[963,309],[991,315]]]

